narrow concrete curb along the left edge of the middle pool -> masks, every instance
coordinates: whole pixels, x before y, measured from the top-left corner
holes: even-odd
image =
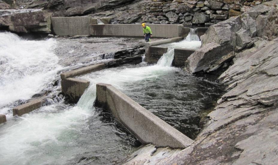
[[[81,67],[79,69],[71,70],[69,72],[61,73],[61,79],[67,79],[69,77],[80,76],[82,74],[90,73],[105,68],[105,64],[93,64],[87,67]]]

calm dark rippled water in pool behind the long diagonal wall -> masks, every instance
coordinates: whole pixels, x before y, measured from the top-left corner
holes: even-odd
[[[192,75],[184,70],[126,84],[122,91],[144,108],[195,139],[200,119],[213,110],[224,87],[212,75]]]

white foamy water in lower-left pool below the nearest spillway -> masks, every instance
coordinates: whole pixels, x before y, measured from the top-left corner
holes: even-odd
[[[57,110],[51,105],[8,120],[0,127],[0,164],[65,164],[69,158],[64,147],[70,147],[91,115],[79,107]]]

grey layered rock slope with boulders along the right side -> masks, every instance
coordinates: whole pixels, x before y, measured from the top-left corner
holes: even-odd
[[[143,161],[135,157],[126,164],[277,164],[277,6],[278,0],[266,2],[211,26],[199,52],[188,59],[189,71],[208,72],[217,68],[211,67],[212,62],[223,64],[224,57],[234,56],[233,64],[219,76],[228,92],[208,114],[209,121],[194,143],[181,152],[173,150],[167,158],[145,155]],[[222,55],[221,46],[231,47],[222,58],[217,56]]]

